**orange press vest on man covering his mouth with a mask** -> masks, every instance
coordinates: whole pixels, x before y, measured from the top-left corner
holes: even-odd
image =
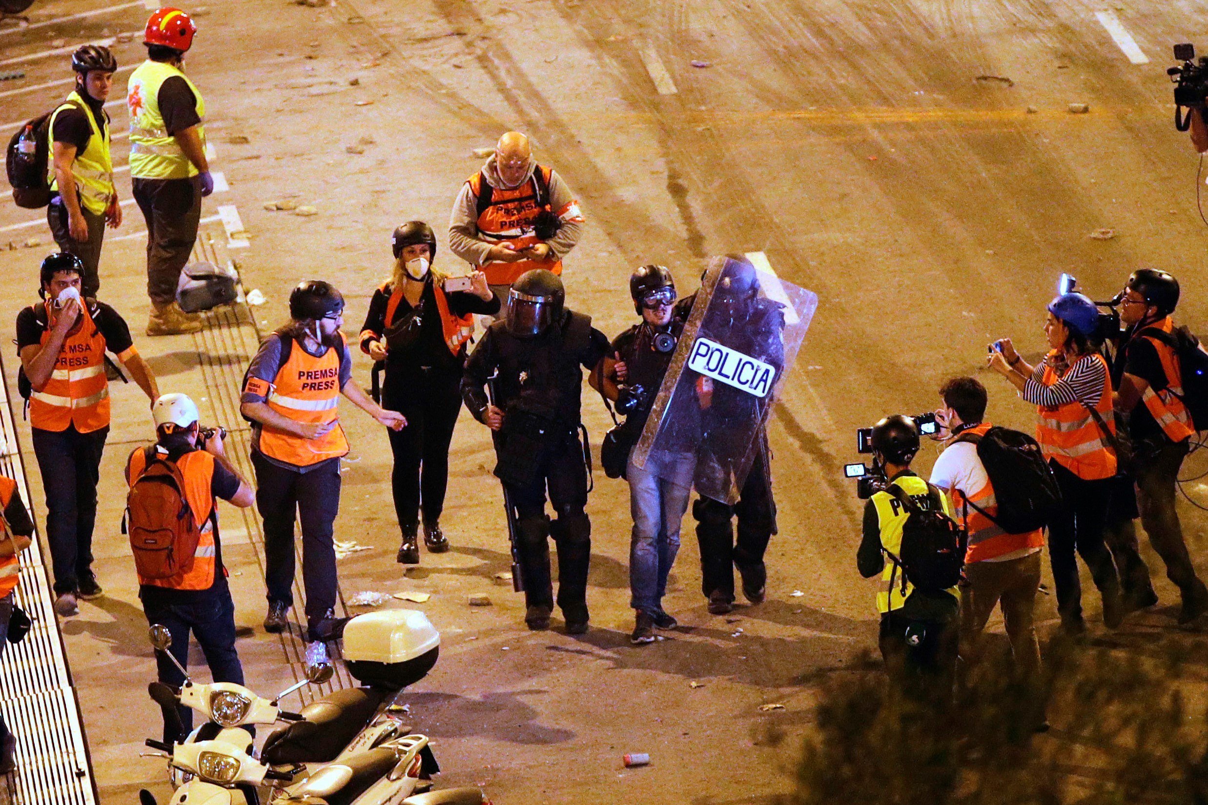
[[[53,308],[46,304],[42,346],[54,326]],[[109,380],[105,379],[105,337],[100,334],[87,303],[80,321],[63,342],[46,387],[29,397],[29,425],[42,431],[65,431],[75,425],[81,433],[109,426]]]

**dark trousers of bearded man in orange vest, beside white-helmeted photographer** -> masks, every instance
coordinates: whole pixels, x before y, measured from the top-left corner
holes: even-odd
[[[339,460],[309,472],[286,469],[251,451],[256,508],[265,520],[265,582],[268,601],[294,606],[294,523],[302,521],[302,587],[307,640],[336,607],[336,514],[339,513]]]

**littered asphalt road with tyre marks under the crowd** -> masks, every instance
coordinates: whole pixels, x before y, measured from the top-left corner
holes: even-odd
[[[40,0],[31,18],[95,7]],[[780,533],[768,552],[768,601],[708,616],[689,527],[667,607],[689,628],[649,647],[628,644],[623,484],[597,473],[588,509],[593,630],[529,634],[517,628],[517,597],[490,585],[507,560],[484,428],[463,416],[454,439],[443,523],[453,553],[425,555],[403,579],[384,434],[345,413],[354,453],[338,529],[373,549],[342,560],[344,591],[435,594],[422,608],[445,646],[413,710],[451,782],[483,783],[495,803],[585,804],[766,801],[791,786],[812,719],[809,675],[875,648],[875,587],[854,568],[861,503],[842,477],[858,460],[855,428],[934,408],[942,380],[965,373],[988,386],[993,420],[1030,427],[1028,407],[981,367],[993,338],[1040,351],[1061,272],[1107,297],[1133,268],[1172,270],[1180,319],[1204,329],[1197,157],[1172,126],[1163,74],[1171,45],[1203,31],[1204,11],[1191,0],[219,0],[201,10],[187,69],[230,183],[205,215],[238,206],[251,246],[237,257],[246,286],[268,298],[255,309],[266,327],[284,317],[290,286],[323,278],[350,299],[355,333],[389,272],[390,231],[405,220],[431,222],[437,266],[459,270],[446,249],[449,206],[481,162],[471,151],[512,128],[533,138],[539,161],[582,204],[586,235],[565,261],[568,304],[609,336],[633,320],[626,280],[647,262],[668,264],[686,293],[710,256],[762,251],[780,276],[819,296],[769,428]],[[1129,59],[1102,12],[1148,63]],[[68,75],[64,56],[6,62],[139,31],[145,13],[0,27],[0,72],[27,74],[0,82],[0,123],[48,109],[65,88],[25,88]],[[138,39],[115,47],[123,68],[141,57]],[[1070,113],[1070,104],[1088,112]],[[124,107],[109,111],[123,132]],[[124,152],[115,144],[115,163]],[[126,175],[120,187],[130,198]],[[318,215],[263,209],[285,199]],[[133,206],[127,214],[123,234],[141,228]],[[33,301],[50,238],[45,226],[6,227],[36,217],[0,200],[0,249],[16,246],[0,251],[0,272],[23,288],[0,299],[8,321]],[[1114,237],[1091,238],[1098,229]],[[33,237],[43,245],[23,247]],[[103,298],[135,325],[141,244],[114,243],[101,264],[103,280],[112,278]],[[163,352],[151,339],[139,345]],[[196,360],[174,371],[185,381]],[[358,373],[367,383],[367,361]],[[124,430],[115,425],[111,441],[144,438],[135,395],[118,399]],[[606,415],[591,396],[585,412],[598,443]],[[934,455],[928,448],[919,466]],[[121,482],[106,472],[103,483],[109,605],[85,605],[68,644],[108,805],[130,801],[161,770],[134,757],[156,729],[140,687],[153,666],[138,648],[133,570],[112,527]],[[1208,503],[1208,490],[1189,492]],[[1181,513],[1202,567],[1206,519],[1190,506]],[[1175,605],[1173,588],[1156,581],[1163,605]],[[245,582],[237,617],[257,629],[240,651],[249,683],[267,692],[284,671],[259,630],[262,591]],[[469,609],[465,596],[477,591],[495,606]],[[1052,601],[1040,606],[1052,628]],[[1126,628],[1168,626],[1172,611],[1160,607]],[[759,711],[769,702],[785,710]],[[777,745],[777,735],[788,740]],[[625,770],[626,752],[649,752],[652,764]]]

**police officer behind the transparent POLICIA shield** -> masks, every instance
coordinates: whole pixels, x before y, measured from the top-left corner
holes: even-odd
[[[701,322],[701,334],[769,363],[779,372],[784,364],[784,305],[760,297],[759,290],[755,267],[745,257],[730,257],[721,269],[709,311]],[[692,294],[680,302],[681,309],[690,310],[695,298]],[[750,448],[750,444],[737,444],[736,439],[749,437],[750,422],[763,421],[767,398],[714,383],[704,375],[697,378],[696,392],[703,420],[697,476],[705,472],[732,476],[734,463]],[[755,441],[755,457],[738,501],[731,506],[701,496],[692,504],[696,538],[701,544],[701,589],[709,599],[713,614],[726,614],[733,608],[736,567],[747,600],[760,603],[765,596],[763,553],[777,529],[771,454],[762,425]],[[737,539],[732,525],[736,514]]]

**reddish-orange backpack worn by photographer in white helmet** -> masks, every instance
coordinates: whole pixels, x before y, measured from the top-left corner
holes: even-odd
[[[185,477],[174,461],[146,450],[146,467],[126,497],[126,524],[139,577],[164,579],[193,568],[202,530],[185,497]]]

